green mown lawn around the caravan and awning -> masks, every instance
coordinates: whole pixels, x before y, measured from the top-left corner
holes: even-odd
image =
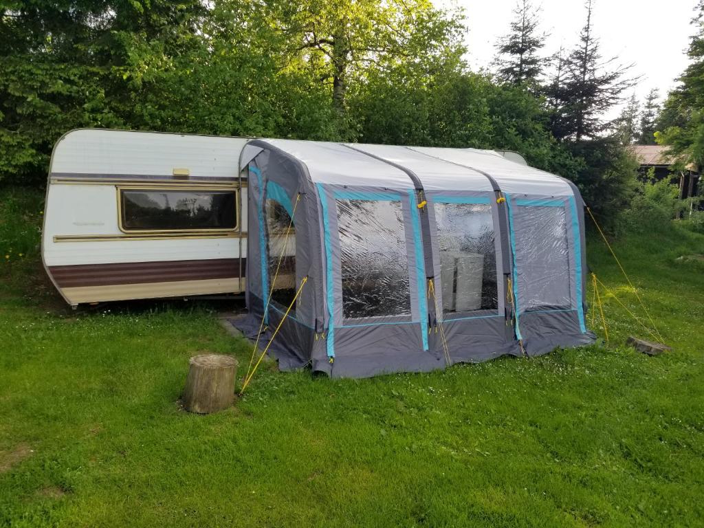
[[[234,408],[196,416],[177,403],[189,356],[249,361],[218,325],[232,305],[71,312],[38,263],[39,210],[0,191],[0,249],[23,253],[0,271],[1,526],[702,522],[704,265],[675,260],[702,235],[615,244],[672,353],[622,346],[644,331],[607,297],[608,347],[363,380],[269,364]],[[598,239],[588,254],[642,313]]]

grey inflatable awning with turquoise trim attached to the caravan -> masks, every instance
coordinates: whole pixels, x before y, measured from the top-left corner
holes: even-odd
[[[494,151],[257,139],[239,327],[279,368],[422,372],[590,344],[584,204]],[[287,314],[287,308],[291,310]]]

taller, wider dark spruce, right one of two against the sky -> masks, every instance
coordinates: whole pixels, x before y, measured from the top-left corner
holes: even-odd
[[[624,90],[635,82],[624,77],[630,66],[615,61],[603,61],[593,34],[592,0],[587,0],[579,45],[559,59],[559,79],[547,89],[554,108],[551,130],[556,138],[575,142],[597,139],[612,128],[613,123],[604,120],[603,115],[622,101]]]

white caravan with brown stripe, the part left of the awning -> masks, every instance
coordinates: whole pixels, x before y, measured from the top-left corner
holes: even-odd
[[[80,303],[244,291],[247,140],[73,130],[54,147],[42,258]],[[243,213],[244,209],[244,213]]]

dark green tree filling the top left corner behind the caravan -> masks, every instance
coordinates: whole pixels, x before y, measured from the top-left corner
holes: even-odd
[[[33,0],[0,8],[0,179],[42,181],[75,127],[139,127],[155,75],[196,39],[199,0]]]

